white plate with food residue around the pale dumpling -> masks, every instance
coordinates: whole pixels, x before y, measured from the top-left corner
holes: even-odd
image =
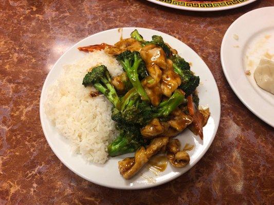
[[[271,54],[274,60],[274,7],[256,9],[236,19],[221,47],[229,85],[251,112],[274,127],[274,95],[257,86],[253,77],[261,57],[271,59]],[[245,74],[247,70],[251,75]]]

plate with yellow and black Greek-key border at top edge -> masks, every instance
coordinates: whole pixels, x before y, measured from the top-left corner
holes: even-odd
[[[193,0],[147,0],[174,9],[189,11],[221,11],[245,6],[257,0],[215,0],[215,1],[193,1]]]

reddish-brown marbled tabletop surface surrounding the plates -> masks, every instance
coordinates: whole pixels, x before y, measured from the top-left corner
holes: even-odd
[[[208,13],[138,0],[1,1],[0,204],[270,204],[273,128],[236,97],[220,61],[229,25],[266,6],[274,0]],[[41,89],[54,62],[82,38],[118,27],[182,40],[205,60],[221,95],[220,127],[205,156],[186,174],[147,190],[108,189],[77,176],[53,154],[40,124]]]

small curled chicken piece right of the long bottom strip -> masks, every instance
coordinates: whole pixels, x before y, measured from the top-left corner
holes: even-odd
[[[178,139],[171,139],[167,145],[167,157],[172,166],[177,168],[185,167],[189,161],[189,154],[180,151],[180,142]]]

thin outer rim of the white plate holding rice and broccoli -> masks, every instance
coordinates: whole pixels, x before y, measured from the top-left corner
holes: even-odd
[[[168,178],[168,179],[166,179],[166,180],[162,180],[162,181],[159,181],[159,182],[157,182],[157,183],[144,184],[143,187],[141,187],[141,188],[140,188],[140,187],[119,187],[119,188],[117,188],[117,186],[115,186],[115,185],[105,185],[104,183],[101,183],[101,182],[98,182],[98,181],[94,181],[94,180],[92,180],[92,179],[90,179],[90,178],[88,178],[88,177],[85,177],[84,175],[82,175],[81,173],[79,173],[78,171],[76,171],[74,168],[72,168],[72,167],[69,165],[69,163],[66,162],[66,161],[63,159],[63,157],[60,156],[60,155],[53,149],[53,145],[51,144],[49,138],[48,138],[48,137],[46,136],[46,134],[45,134],[45,122],[44,122],[44,120],[42,119],[42,118],[43,118],[43,117],[42,117],[42,114],[43,114],[43,112],[44,112],[44,110],[43,110],[43,109],[44,109],[44,106],[43,106],[43,96],[42,96],[42,94],[43,94],[44,92],[46,92],[46,86],[45,86],[45,85],[46,85],[46,82],[49,80],[49,75],[50,75],[50,73],[52,72],[53,68],[58,64],[58,62],[59,62],[59,61],[64,57],[64,55],[65,55],[66,53],[68,53],[75,45],[77,45],[77,44],[83,42],[85,39],[87,39],[87,38],[89,38],[89,37],[91,37],[91,36],[93,36],[93,35],[98,35],[98,34],[103,33],[103,32],[113,31],[113,30],[118,30],[118,29],[119,29],[119,28],[108,29],[108,30],[100,31],[100,32],[98,32],[98,33],[94,33],[94,34],[92,34],[92,35],[89,35],[89,36],[87,36],[87,37],[85,37],[85,38],[79,40],[77,43],[75,43],[75,44],[72,45],[71,47],[69,47],[69,48],[67,49],[67,51],[66,51],[64,54],[62,54],[62,55],[58,58],[58,60],[56,61],[56,63],[51,67],[50,71],[48,72],[48,74],[47,74],[47,76],[46,76],[46,78],[45,78],[44,84],[43,84],[43,88],[42,88],[42,90],[41,90],[40,104],[39,104],[39,106],[40,106],[40,109],[39,109],[39,111],[40,111],[40,121],[41,121],[41,125],[42,125],[42,130],[43,130],[44,136],[45,136],[45,138],[46,138],[46,140],[47,140],[47,142],[48,142],[48,145],[50,146],[51,150],[52,150],[53,153],[58,157],[58,159],[59,159],[59,160],[60,160],[60,161],[61,161],[61,162],[70,170],[70,171],[74,172],[76,175],[78,175],[78,176],[84,178],[84,179],[87,180],[87,181],[90,181],[90,182],[92,182],[92,183],[95,183],[95,184],[97,184],[97,185],[100,185],[100,186],[103,186],[103,187],[107,187],[107,188],[112,188],[112,189],[121,189],[121,190],[141,190],[141,189],[148,189],[148,188],[152,188],[152,187],[157,187],[157,186],[163,185],[164,183],[167,183],[167,182],[169,182],[169,181],[171,181],[171,180],[174,180],[174,179],[176,179],[177,177],[181,176],[182,174],[185,174],[186,172],[188,172],[191,168],[193,168],[193,167],[196,165],[196,163],[197,163],[198,161],[200,161],[200,159],[205,155],[205,153],[206,153],[206,152],[208,151],[208,149],[210,148],[210,146],[211,146],[211,144],[212,144],[212,142],[213,142],[213,140],[214,140],[214,138],[215,138],[215,136],[216,136],[218,127],[219,127],[219,125],[220,125],[220,119],[221,119],[221,106],[222,106],[222,105],[221,105],[221,99],[220,99],[220,92],[218,91],[218,87],[217,87],[217,84],[216,84],[216,80],[215,80],[215,78],[214,78],[214,76],[213,76],[211,70],[208,68],[208,66],[206,65],[205,61],[202,59],[202,57],[200,57],[200,55],[198,55],[198,53],[196,53],[191,47],[189,47],[188,45],[186,45],[184,42],[181,42],[181,40],[179,40],[179,39],[176,38],[176,39],[179,40],[182,44],[185,44],[187,47],[189,47],[189,49],[191,49],[193,52],[195,52],[195,53],[200,57],[200,59],[202,59],[202,61],[204,62],[204,64],[207,66],[207,69],[209,70],[210,75],[211,75],[212,78],[214,79],[213,84],[214,84],[214,86],[215,86],[215,88],[216,88],[216,90],[217,90],[217,93],[216,93],[217,104],[220,105],[220,106],[219,106],[219,109],[217,110],[217,114],[218,114],[218,116],[216,116],[216,119],[217,119],[217,120],[214,121],[214,123],[216,122],[216,123],[215,123],[215,125],[216,125],[216,130],[215,130],[215,131],[213,132],[213,134],[212,134],[213,137],[211,137],[211,139],[209,140],[208,146],[200,153],[200,155],[196,158],[196,161],[193,162],[192,167],[189,167],[188,169],[186,169],[186,171],[185,171],[184,173],[178,173],[177,175],[174,175],[174,176],[172,176],[172,177],[170,177],[170,178]],[[157,31],[157,30],[155,30],[155,29],[141,28],[141,27],[122,27],[122,29],[133,29],[133,30],[134,30],[134,29],[146,29],[146,30],[151,30],[151,31]],[[167,34],[167,33],[161,32],[161,31],[157,31],[157,32],[162,33],[162,34],[165,34],[165,35],[169,35],[169,34]],[[175,38],[175,37],[172,36],[172,35],[169,35],[169,36]]]

